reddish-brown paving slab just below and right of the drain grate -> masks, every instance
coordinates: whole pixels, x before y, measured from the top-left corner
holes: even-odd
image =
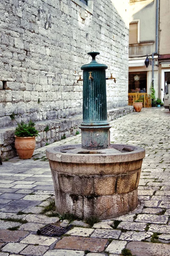
[[[107,242],[107,239],[66,236],[59,240],[54,248],[102,252]]]

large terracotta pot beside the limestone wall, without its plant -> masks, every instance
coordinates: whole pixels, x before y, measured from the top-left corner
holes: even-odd
[[[35,136],[17,137],[15,136],[15,148],[20,159],[29,159],[32,157],[35,148]]]

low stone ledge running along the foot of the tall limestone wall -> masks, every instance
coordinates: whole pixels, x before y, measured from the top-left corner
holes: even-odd
[[[108,111],[108,121],[133,112],[133,106],[114,108]],[[58,140],[65,139],[81,133],[79,125],[82,122],[82,115],[68,119],[43,120],[36,123],[35,127],[40,136],[36,138],[36,148],[41,148]],[[8,160],[17,156],[14,146],[14,127],[0,129],[0,156]]]

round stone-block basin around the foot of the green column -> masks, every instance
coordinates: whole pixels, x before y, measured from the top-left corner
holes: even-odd
[[[127,214],[137,207],[143,148],[111,145],[88,151],[81,145],[46,150],[55,188],[57,212],[99,219]]]

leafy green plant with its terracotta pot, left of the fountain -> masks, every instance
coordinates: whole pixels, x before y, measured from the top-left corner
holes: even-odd
[[[35,129],[35,123],[31,120],[26,124],[21,122],[15,129],[15,148],[20,159],[29,159],[32,157],[35,148],[35,137],[38,131]]]

